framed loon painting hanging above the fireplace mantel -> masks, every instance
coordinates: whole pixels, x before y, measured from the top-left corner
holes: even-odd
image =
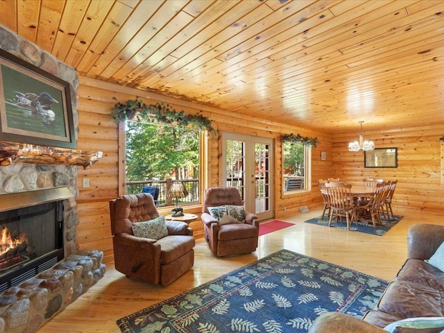
[[[1,49],[0,140],[76,149],[69,83]]]

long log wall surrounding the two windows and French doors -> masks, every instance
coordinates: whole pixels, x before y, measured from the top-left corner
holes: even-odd
[[[78,169],[77,199],[78,216],[78,243],[83,250],[100,249],[104,253],[103,262],[111,262],[112,235],[110,230],[110,216],[108,202],[119,196],[119,187],[123,187],[124,180],[119,180],[119,163],[124,157],[119,157],[119,126],[110,116],[110,110],[117,101],[125,102],[129,99],[140,98],[146,103],[164,101],[173,105],[176,110],[185,110],[195,114],[202,112],[213,121],[213,126],[219,133],[223,131],[242,133],[253,136],[275,139],[275,217],[299,212],[301,206],[315,207],[321,202],[316,180],[331,176],[332,150],[330,137],[323,133],[315,133],[303,128],[290,127],[259,119],[240,118],[232,112],[209,108],[186,101],[171,99],[167,96],[142,92],[137,89],[122,87],[112,83],[80,76],[79,95],[79,128],[78,149],[100,150],[103,157],[90,169]],[[319,143],[312,150],[311,188],[305,194],[282,195],[282,162],[280,135],[282,133],[300,133],[302,136],[318,137]],[[219,136],[220,137],[220,136]],[[211,136],[207,142],[208,158],[207,186],[221,184],[219,159],[221,157],[221,140]],[[321,151],[327,152],[327,161],[321,161]],[[89,178],[90,187],[84,188],[83,178]],[[205,182],[205,180],[204,180]],[[186,207],[189,213],[200,216],[201,206]],[[169,210],[160,209],[161,214],[169,214]],[[191,223],[196,237],[203,234],[202,222]]]

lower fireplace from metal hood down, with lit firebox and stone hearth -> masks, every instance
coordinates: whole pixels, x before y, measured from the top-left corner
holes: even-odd
[[[73,250],[68,187],[0,196],[0,333],[32,333],[105,274],[103,253]]]

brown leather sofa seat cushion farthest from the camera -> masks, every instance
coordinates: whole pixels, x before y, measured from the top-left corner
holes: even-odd
[[[407,259],[396,278],[444,291],[444,272],[424,260]]]

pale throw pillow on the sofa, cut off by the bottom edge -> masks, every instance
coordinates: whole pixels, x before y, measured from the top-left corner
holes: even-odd
[[[406,330],[402,330],[403,328],[406,328]],[[444,318],[443,317],[407,318],[403,319],[402,321],[395,321],[395,323],[387,325],[386,327],[384,327],[384,330],[390,333],[400,333],[400,332],[439,333],[441,332],[441,330],[444,330]]]

